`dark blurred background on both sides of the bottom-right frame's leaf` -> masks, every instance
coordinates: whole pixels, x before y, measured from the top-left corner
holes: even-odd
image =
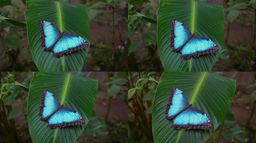
[[[129,73],[129,80],[128,80],[128,89],[134,88],[135,83],[139,78],[145,78],[145,75],[149,75],[153,77],[156,81],[159,81],[163,72],[131,72]],[[223,127],[222,133],[220,136],[219,143],[255,143],[256,142],[256,101],[252,101],[250,98],[251,94],[255,94],[254,90],[255,87],[246,88],[246,86],[256,83],[256,73],[255,72],[223,72],[219,73],[223,74],[226,77],[231,79],[237,80],[237,85],[235,89],[235,95],[232,99],[231,106],[229,111],[233,112],[233,115],[226,115],[226,119],[228,118],[229,121],[232,121],[234,125]],[[146,76],[147,77],[147,76]],[[132,86],[132,82],[133,85]],[[213,83],[214,84],[214,83]],[[141,93],[142,96],[137,96],[138,99],[141,99],[140,104],[138,105],[135,101],[135,95],[129,99],[128,102],[128,124],[130,127],[129,133],[131,134],[128,139],[129,141],[136,140],[139,143],[143,142],[153,142],[152,137],[152,130],[151,130],[151,115],[152,115],[152,106],[153,106],[153,96],[148,96],[148,93],[155,94],[156,84],[153,81],[148,81],[143,86],[143,91]],[[153,91],[151,91],[151,89]],[[211,91],[214,92],[214,91]],[[146,98],[151,100],[145,101]],[[137,101],[138,101],[137,99]],[[148,132],[144,132],[141,129],[141,125],[138,122],[137,118],[143,118],[141,114],[139,114],[138,109],[141,108],[142,111],[146,114],[146,122],[147,122],[147,130]],[[135,115],[136,114],[136,115]],[[249,122],[248,129],[246,131],[231,131],[235,127],[247,127],[247,121],[252,115],[252,118]],[[234,117],[233,119],[231,119]],[[219,136],[220,131],[216,130],[213,134],[211,134],[210,138],[207,140],[206,143],[217,143],[217,138]],[[225,134],[229,134],[231,136],[230,139],[225,139],[223,136]],[[242,141],[239,141],[237,138],[240,138]]]

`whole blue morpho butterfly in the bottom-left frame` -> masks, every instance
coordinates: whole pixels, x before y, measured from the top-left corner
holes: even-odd
[[[49,128],[83,125],[83,117],[77,111],[60,105],[58,98],[49,91],[42,91],[42,103],[39,115],[41,120],[48,120]]]

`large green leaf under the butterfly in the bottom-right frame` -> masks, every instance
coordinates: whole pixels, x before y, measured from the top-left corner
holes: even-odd
[[[203,143],[222,122],[235,92],[236,81],[207,72],[168,72],[159,80],[152,111],[152,132],[155,143]],[[177,87],[185,93],[189,104],[202,110],[212,122],[210,130],[176,130],[166,119],[165,108],[170,89]]]

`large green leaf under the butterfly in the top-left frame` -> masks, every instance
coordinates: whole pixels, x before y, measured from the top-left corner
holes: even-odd
[[[33,60],[39,71],[81,71],[89,48],[80,49],[62,57],[53,57],[52,51],[41,46],[38,21],[46,20],[60,31],[79,35],[90,43],[89,18],[85,5],[57,1],[27,1],[25,13],[28,41]]]

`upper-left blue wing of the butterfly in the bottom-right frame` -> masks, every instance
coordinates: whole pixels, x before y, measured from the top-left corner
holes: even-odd
[[[165,109],[167,119],[176,117],[186,107],[189,107],[188,99],[184,93],[177,88],[171,88],[170,100]]]

